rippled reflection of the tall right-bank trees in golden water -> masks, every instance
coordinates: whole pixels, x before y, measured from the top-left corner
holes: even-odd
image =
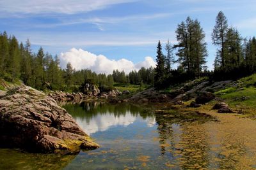
[[[202,116],[201,116],[202,117]],[[171,153],[171,162],[184,169],[209,166],[209,145],[202,124],[212,120],[198,114],[178,113],[156,114],[161,154]]]

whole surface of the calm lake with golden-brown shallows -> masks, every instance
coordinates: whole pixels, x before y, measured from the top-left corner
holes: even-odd
[[[256,169],[255,121],[152,107],[67,104],[99,149],[64,156],[1,149],[0,169]]]

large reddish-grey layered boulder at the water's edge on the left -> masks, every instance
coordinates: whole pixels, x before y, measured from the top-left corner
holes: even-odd
[[[0,145],[46,153],[99,147],[52,97],[27,86],[0,97]]]

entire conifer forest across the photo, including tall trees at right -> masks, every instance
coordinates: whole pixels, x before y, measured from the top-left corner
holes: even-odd
[[[84,82],[97,84],[101,89],[112,88],[114,83],[152,85],[164,89],[195,78],[207,76],[209,80],[236,80],[256,72],[256,39],[243,38],[236,28],[228,26],[228,20],[220,11],[212,30],[212,44],[216,46],[214,70],[209,71],[207,43],[200,22],[188,17],[177,25],[177,44],[170,41],[163,47],[157,44],[156,68],[141,67],[125,74],[114,70],[113,74],[97,74],[88,69],[75,70],[70,63],[61,69],[58,56],[52,56],[40,47],[33,53],[29,39],[19,43],[15,36],[0,34],[0,77],[6,81],[22,80],[36,89],[76,92]],[[175,67],[174,65],[177,65]]]

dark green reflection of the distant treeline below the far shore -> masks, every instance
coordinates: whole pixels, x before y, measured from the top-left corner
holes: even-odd
[[[109,113],[113,114],[115,117],[125,117],[127,113],[134,117],[152,117],[152,113],[144,111],[143,107],[128,103],[108,104],[83,102],[80,104],[66,104],[63,108],[73,117],[79,117],[82,118],[82,120],[86,119],[86,122],[89,122],[93,117],[97,117],[97,115],[107,115]]]

